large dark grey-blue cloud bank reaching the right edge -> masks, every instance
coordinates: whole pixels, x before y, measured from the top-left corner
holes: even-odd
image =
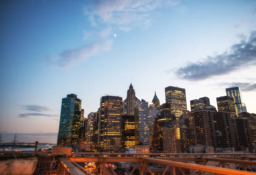
[[[256,65],[256,31],[251,32],[247,41],[241,40],[230,47],[229,52],[207,56],[204,61],[188,63],[175,71],[185,80],[207,79],[214,75],[225,75],[246,66]],[[168,72],[168,71],[167,71]]]

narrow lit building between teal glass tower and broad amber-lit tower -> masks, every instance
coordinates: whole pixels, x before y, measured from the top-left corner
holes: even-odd
[[[86,150],[91,151],[93,145],[93,117],[95,112],[87,115],[87,134],[86,134]]]

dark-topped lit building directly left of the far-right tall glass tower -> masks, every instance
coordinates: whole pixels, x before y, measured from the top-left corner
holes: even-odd
[[[229,97],[229,96],[217,97],[216,100],[217,100],[218,111],[230,112],[231,116],[236,115],[236,107],[235,107],[233,97]]]

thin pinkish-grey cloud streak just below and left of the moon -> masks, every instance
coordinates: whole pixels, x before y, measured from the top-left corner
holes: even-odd
[[[91,43],[77,49],[64,50],[58,57],[51,57],[52,59],[50,61],[53,65],[66,67],[74,61],[86,60],[88,57],[95,55],[100,51],[110,50],[112,44],[112,40],[106,40],[103,43]]]

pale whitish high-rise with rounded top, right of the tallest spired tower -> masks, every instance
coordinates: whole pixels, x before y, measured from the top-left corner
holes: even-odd
[[[139,101],[135,106],[135,144],[149,145],[148,102]]]

